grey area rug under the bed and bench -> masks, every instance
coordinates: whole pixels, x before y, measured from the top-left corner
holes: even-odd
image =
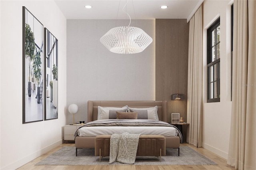
[[[41,160],[36,165],[110,165],[109,157],[101,159],[94,156],[94,149],[78,149],[76,156],[76,148],[64,146],[60,150],[54,152],[47,158]],[[117,165],[117,164],[115,164]],[[123,164],[120,164],[123,165]],[[180,156],[178,149],[166,149],[166,156],[160,158],[152,156],[137,156],[134,165],[217,165],[212,160],[206,158],[202,154],[196,152],[188,146],[180,147]]]

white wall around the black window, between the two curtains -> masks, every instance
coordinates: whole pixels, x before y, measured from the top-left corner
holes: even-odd
[[[230,0],[203,2],[203,147],[228,158],[230,137]],[[207,28],[220,16],[220,102],[207,103]]]

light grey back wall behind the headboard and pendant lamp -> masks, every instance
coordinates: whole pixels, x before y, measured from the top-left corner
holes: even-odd
[[[108,30],[127,25],[127,20],[67,20],[67,107],[78,105],[74,122],[87,122],[88,100],[155,100],[155,20],[136,21],[153,38],[141,53],[116,54],[100,43]]]

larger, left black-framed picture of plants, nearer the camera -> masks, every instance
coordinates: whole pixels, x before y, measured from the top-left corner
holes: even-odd
[[[22,123],[43,121],[43,24],[22,7]],[[33,42],[34,39],[34,42]],[[33,50],[34,49],[34,50]]]

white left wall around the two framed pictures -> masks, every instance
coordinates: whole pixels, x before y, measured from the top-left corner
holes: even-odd
[[[58,38],[58,119],[22,124],[22,6]],[[1,169],[16,169],[58,146],[66,124],[66,18],[53,0],[0,1]]]

